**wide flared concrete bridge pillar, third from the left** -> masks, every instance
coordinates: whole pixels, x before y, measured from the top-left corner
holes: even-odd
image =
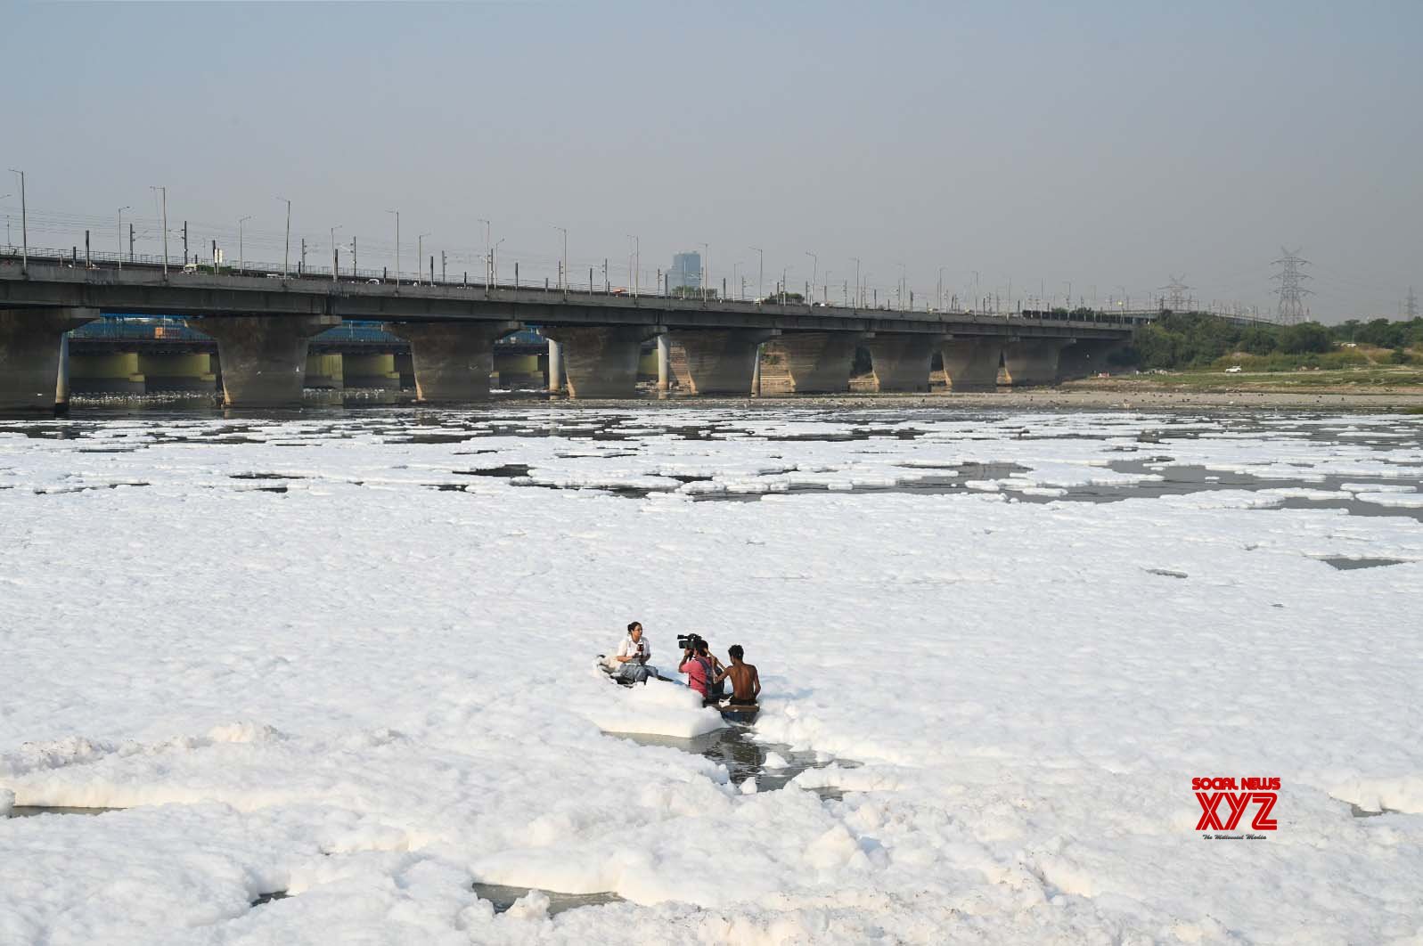
[[[518,321],[406,321],[390,330],[410,343],[418,400],[484,401],[494,343],[521,327]]]

